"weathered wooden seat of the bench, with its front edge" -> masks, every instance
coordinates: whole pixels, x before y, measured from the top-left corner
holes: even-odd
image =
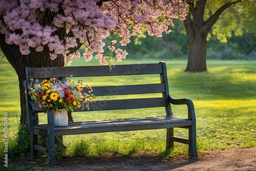
[[[104,121],[88,121],[69,123],[67,127],[55,127],[55,135],[90,134],[103,132],[136,131],[164,129],[191,125],[189,118],[176,116],[158,116],[145,118],[129,118]],[[38,135],[47,133],[47,125],[34,126],[34,132]]]

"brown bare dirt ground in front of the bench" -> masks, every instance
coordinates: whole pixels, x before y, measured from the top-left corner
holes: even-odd
[[[256,170],[256,147],[212,149],[199,153],[198,158],[177,156],[174,159],[158,159],[155,156],[136,154],[121,157],[115,154],[97,158],[63,157],[56,166],[45,161],[12,161],[18,165],[33,165],[39,170]]]

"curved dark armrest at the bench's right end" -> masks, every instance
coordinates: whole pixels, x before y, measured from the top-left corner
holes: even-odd
[[[191,118],[192,120],[196,121],[196,114],[195,114],[195,108],[194,103],[191,99],[183,98],[183,99],[175,99],[172,96],[168,95],[168,100],[172,104],[186,104],[187,105],[187,112],[188,112],[188,118]]]

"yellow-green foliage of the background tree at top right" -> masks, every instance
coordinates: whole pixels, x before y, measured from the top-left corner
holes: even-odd
[[[245,32],[256,34],[256,23],[254,16],[256,15],[256,1],[229,1],[228,3],[239,2],[232,5],[222,12],[217,22],[212,26],[210,38],[215,35],[220,42],[227,42],[232,35],[242,36]],[[223,2],[224,3],[224,2]],[[212,10],[220,8],[221,3],[209,1],[205,16],[209,16]]]

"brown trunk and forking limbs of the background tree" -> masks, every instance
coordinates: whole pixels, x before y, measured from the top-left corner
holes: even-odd
[[[230,5],[241,2],[241,0],[227,3],[219,8],[213,15],[211,15],[206,22],[204,21],[204,9],[207,0],[200,0],[194,5],[193,1],[189,3],[189,11],[184,20],[187,35],[189,37],[189,57],[187,72],[205,72],[206,67],[206,48],[207,48],[207,34],[211,27],[217,22],[220,14]]]

